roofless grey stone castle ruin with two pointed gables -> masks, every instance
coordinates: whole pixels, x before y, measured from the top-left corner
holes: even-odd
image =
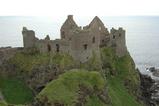
[[[119,57],[127,53],[125,30],[112,28],[109,32],[103,22],[96,16],[89,25],[78,26],[73,15],[68,15],[60,29],[61,39],[50,40],[35,37],[33,30],[23,27],[24,48],[36,47],[40,52],[68,53],[82,63],[89,60],[93,54],[100,57],[100,47],[114,47]]]

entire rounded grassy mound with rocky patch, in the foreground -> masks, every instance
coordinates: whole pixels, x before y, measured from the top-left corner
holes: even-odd
[[[47,84],[37,98],[41,103],[47,102],[51,105],[105,106],[98,97],[98,94],[104,91],[105,85],[104,79],[98,72],[74,69]]]

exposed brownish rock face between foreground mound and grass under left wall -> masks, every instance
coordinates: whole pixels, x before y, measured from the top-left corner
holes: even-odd
[[[46,85],[53,79],[56,79],[58,75],[62,73],[56,65],[42,65],[32,69],[27,83],[36,92],[40,92]]]

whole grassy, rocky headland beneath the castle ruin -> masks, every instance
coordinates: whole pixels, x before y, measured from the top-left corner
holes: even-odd
[[[139,75],[131,56],[119,58],[112,48],[101,48],[101,59],[94,56],[79,64],[67,54],[19,52],[6,62],[14,70],[0,78],[5,100],[0,101],[0,106],[142,106],[137,100]],[[50,70],[60,73],[47,79],[46,73],[39,71],[40,66],[49,67],[47,75],[55,74]],[[42,76],[40,81],[35,72]],[[45,85],[36,92],[32,83]]]

